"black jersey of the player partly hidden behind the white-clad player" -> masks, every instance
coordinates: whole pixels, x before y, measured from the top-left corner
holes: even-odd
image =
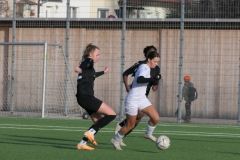
[[[138,61],[132,67],[128,68],[125,72],[123,72],[123,76],[128,76],[129,74],[132,74],[132,76],[135,76],[135,73],[137,72],[138,67],[143,63],[146,63],[146,61]],[[160,68],[158,66],[156,66],[155,68],[150,68],[150,69],[151,69],[150,70],[151,77],[160,73]],[[154,85],[158,85],[158,83],[159,83],[159,80],[148,83],[148,86],[146,89],[146,96],[148,96],[151,87]]]

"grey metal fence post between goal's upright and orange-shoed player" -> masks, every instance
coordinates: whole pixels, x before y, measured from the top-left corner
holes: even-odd
[[[67,0],[67,17],[66,17],[66,66],[65,66],[65,89],[64,89],[64,116],[67,116],[67,99],[68,99],[68,57],[69,57],[69,29],[70,29],[70,21],[69,15],[70,13],[70,0]]]

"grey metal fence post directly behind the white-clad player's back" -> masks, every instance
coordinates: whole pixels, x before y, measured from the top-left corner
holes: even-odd
[[[125,36],[126,36],[126,0],[123,0],[123,12],[122,12],[122,63],[121,63],[121,89],[120,89],[120,116],[119,119],[123,120],[123,92],[124,92],[124,85],[122,79],[122,73],[124,72],[124,65],[125,65]]]

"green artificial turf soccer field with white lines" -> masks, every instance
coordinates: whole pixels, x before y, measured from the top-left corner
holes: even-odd
[[[77,150],[76,145],[92,122],[77,119],[0,118],[2,160],[239,160],[240,128],[233,125],[159,123],[154,135],[167,135],[169,149],[159,150],[143,138],[141,122],[117,151],[110,143],[118,121],[95,136],[94,151]],[[91,145],[91,144],[90,144]]]

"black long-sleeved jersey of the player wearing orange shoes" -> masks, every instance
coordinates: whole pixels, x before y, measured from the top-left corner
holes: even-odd
[[[94,80],[103,75],[104,71],[95,72],[93,60],[91,58],[83,60],[79,68],[82,69],[82,73],[78,74],[78,94],[94,95]]]

